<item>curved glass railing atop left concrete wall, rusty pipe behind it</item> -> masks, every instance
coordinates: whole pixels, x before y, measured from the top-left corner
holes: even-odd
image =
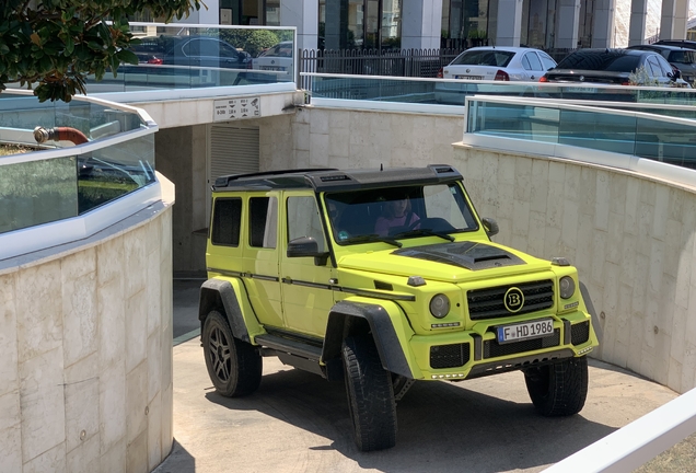
[[[0,97],[0,233],[84,215],[156,181],[156,125],[143,112]]]

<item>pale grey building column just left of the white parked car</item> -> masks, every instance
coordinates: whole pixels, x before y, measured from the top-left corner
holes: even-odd
[[[402,16],[402,49],[440,48],[442,0],[403,0]]]

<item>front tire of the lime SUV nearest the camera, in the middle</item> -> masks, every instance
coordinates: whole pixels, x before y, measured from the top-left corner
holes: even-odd
[[[396,403],[392,376],[382,368],[369,335],[348,337],[343,344],[348,408],[356,445],[361,451],[396,445]]]

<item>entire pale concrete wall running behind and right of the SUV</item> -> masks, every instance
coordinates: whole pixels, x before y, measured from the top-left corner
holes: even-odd
[[[262,165],[455,165],[478,212],[500,223],[496,241],[578,266],[603,314],[604,339],[593,356],[677,392],[694,388],[695,189],[599,165],[452,146],[463,126],[461,117],[305,107],[263,120]]]

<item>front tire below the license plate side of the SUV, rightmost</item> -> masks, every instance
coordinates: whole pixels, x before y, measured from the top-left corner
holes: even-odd
[[[588,358],[569,358],[524,371],[526,391],[546,417],[578,414],[588,396]]]

